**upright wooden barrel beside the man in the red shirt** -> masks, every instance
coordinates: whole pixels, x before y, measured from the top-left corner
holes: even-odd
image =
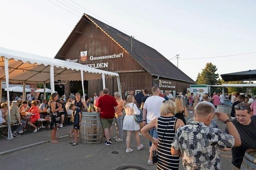
[[[103,129],[100,113],[82,112],[80,141],[85,145],[98,145],[102,142]]]

